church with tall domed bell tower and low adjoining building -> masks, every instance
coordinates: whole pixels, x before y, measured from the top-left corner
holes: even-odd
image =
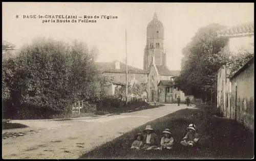
[[[148,71],[148,101],[175,102],[178,96],[181,97],[181,100],[185,100],[184,93],[173,89],[172,86],[174,78],[179,75],[180,71],[169,70],[166,66],[164,26],[156,12],[153,20],[147,25],[146,34],[143,69]]]

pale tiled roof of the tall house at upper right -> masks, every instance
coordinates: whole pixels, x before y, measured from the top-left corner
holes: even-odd
[[[217,34],[223,37],[252,35],[254,34],[254,22],[236,25],[232,28],[221,30]]]

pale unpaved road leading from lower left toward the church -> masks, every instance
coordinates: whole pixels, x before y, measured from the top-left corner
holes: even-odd
[[[16,120],[13,122],[29,127],[7,129],[2,133],[25,132],[26,135],[3,139],[2,156],[5,159],[76,159],[84,152],[117,138],[133,128],[185,108],[188,107],[183,104],[180,106],[165,104],[160,108],[97,119]]]

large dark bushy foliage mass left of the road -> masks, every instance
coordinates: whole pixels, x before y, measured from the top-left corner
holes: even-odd
[[[101,77],[94,58],[85,43],[39,38],[3,59],[4,117],[49,118],[70,112],[78,99],[95,99]]]

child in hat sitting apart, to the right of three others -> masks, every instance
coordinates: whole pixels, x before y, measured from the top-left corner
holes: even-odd
[[[181,141],[181,145],[193,147],[195,144],[198,143],[199,135],[196,133],[196,126],[194,124],[190,124],[188,126],[189,131],[187,132],[186,136],[183,138],[183,141]]]

